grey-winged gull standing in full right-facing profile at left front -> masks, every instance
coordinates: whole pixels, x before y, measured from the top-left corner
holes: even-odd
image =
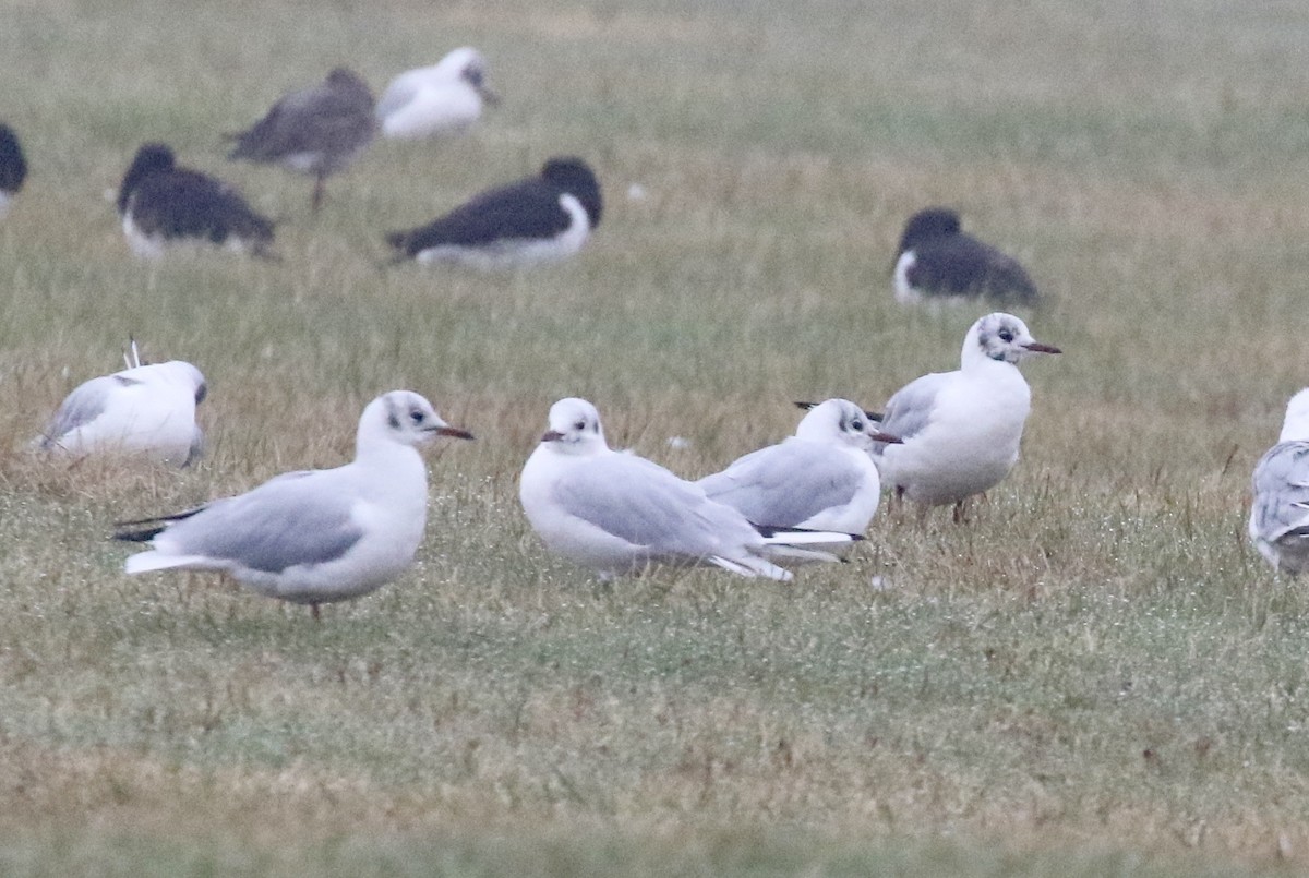
[[[384,394],[364,408],[355,459],[334,470],[285,472],[198,509],[120,523],[115,539],[148,542],[128,573],[229,573],[259,594],[318,605],[356,598],[414,560],[427,522],[427,468],[415,446],[473,438],[423,396]]]

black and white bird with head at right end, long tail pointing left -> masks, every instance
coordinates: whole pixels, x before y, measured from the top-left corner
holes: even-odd
[[[386,236],[397,259],[520,268],[581,249],[600,225],[600,182],[580,158],[551,158],[535,177],[488,190],[427,225]]]

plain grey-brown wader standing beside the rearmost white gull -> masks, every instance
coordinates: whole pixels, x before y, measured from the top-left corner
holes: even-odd
[[[323,183],[355,161],[377,135],[373,93],[352,71],[338,67],[318,85],[284,96],[237,141],[228,158],[276,164],[314,178],[313,209]]]

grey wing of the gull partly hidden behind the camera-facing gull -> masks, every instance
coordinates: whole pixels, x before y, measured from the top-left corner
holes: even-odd
[[[787,440],[700,479],[711,500],[757,525],[795,527],[825,509],[850,502],[860,485],[855,466],[813,442]]]

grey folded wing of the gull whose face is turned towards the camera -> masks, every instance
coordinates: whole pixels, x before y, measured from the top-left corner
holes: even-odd
[[[736,513],[643,458],[613,454],[562,483],[555,500],[565,512],[653,552],[707,557],[724,539],[747,539]]]

